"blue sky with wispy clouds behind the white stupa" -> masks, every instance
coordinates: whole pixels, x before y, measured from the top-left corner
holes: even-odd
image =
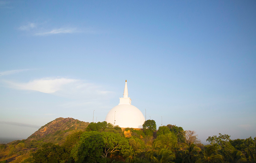
[[[0,137],[104,121],[126,79],[157,126],[256,137],[255,15],[255,1],[1,0]]]

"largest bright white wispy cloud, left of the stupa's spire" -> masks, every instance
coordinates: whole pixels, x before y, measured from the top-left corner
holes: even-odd
[[[21,90],[33,90],[43,93],[51,93],[60,97],[72,99],[95,100],[109,97],[112,91],[106,91],[102,86],[87,83],[83,80],[72,78],[40,78],[27,83],[4,81],[9,87]]]

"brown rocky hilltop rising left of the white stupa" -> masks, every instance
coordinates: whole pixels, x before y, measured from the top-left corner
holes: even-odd
[[[65,138],[70,131],[82,130],[89,125],[89,122],[79,121],[74,118],[56,118],[39,128],[27,140],[43,140],[44,142],[56,142]]]

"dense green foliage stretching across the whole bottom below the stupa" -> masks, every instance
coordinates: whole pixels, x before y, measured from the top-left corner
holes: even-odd
[[[256,162],[256,137],[230,140],[229,135],[219,134],[208,137],[210,144],[203,146],[195,131],[184,131],[176,125],[160,126],[156,131],[154,120],[145,121],[143,129],[126,128],[123,131],[105,121],[90,123],[83,131],[70,131],[61,144],[54,143],[56,140],[42,140],[17,140],[1,144],[0,162]]]

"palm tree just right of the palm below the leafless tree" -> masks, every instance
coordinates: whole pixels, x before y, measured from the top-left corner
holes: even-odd
[[[217,144],[207,145],[202,152],[203,158],[198,159],[196,163],[219,163],[223,161],[223,156],[218,153],[220,147]]]

